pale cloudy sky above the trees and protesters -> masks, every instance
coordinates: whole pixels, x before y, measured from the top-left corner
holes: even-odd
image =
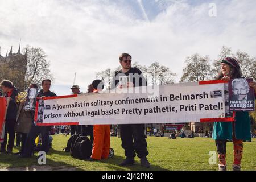
[[[253,7],[255,0],[0,0],[1,55],[18,51],[20,38],[22,47],[43,48],[57,95],[71,93],[75,72],[85,92],[96,72],[118,67],[122,52],[142,65],[159,61],[178,81],[196,52],[216,59],[228,46],[256,56]]]

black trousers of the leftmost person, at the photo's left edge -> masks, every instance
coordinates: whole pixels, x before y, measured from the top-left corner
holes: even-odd
[[[5,122],[5,139],[3,140],[3,143],[1,143],[1,148],[5,148],[7,144],[7,133],[9,134],[8,139],[8,146],[7,148],[12,149],[14,146],[14,139],[15,139],[15,132],[14,132],[14,126],[16,123],[16,118],[14,119],[6,119]]]

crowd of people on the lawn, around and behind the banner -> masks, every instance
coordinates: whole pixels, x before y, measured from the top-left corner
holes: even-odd
[[[111,89],[122,89],[135,86],[147,86],[147,81],[143,77],[141,70],[131,67],[132,57],[128,53],[122,53],[119,56],[119,64],[121,70],[115,72]],[[236,59],[227,57],[221,61],[220,75],[216,77],[217,80],[229,81],[234,78],[243,78],[240,65]],[[139,75],[139,81],[135,77],[128,79],[126,85],[120,79],[123,76]],[[51,92],[51,80],[45,79],[42,81],[42,89],[37,97],[54,97],[55,93]],[[250,87],[253,87],[256,92],[256,83],[250,82]],[[38,88],[38,85],[31,83],[30,88]],[[16,155],[18,158],[30,158],[34,155],[35,139],[40,136],[42,145],[40,150],[48,152],[49,144],[52,143],[52,138],[49,138],[49,133],[52,131],[51,126],[36,126],[34,123],[34,112],[24,109],[24,102],[16,102],[16,97],[20,92],[16,89],[13,83],[9,80],[1,82],[1,89],[3,91],[2,97],[10,98],[9,107],[6,115],[5,125],[5,139],[1,143],[0,152],[11,154],[13,152],[15,133],[21,138],[21,149]],[[104,83],[101,80],[94,80],[92,84],[88,85],[88,93],[100,94],[100,90],[104,89]],[[71,87],[73,94],[81,94],[79,85]],[[2,95],[2,93],[0,92]],[[236,112],[235,122],[214,122],[214,129],[212,137],[216,142],[219,169],[226,170],[226,141],[228,139],[233,141],[234,146],[234,163],[233,169],[241,169],[241,159],[243,154],[243,140],[249,140],[250,134],[250,118],[248,112]],[[55,127],[57,132],[60,132],[59,127]],[[92,141],[92,155],[89,161],[106,159],[109,156],[110,149],[110,125],[80,125],[66,127],[64,133],[66,135],[71,133],[80,135],[90,135]],[[118,125],[114,133],[118,133],[121,137],[122,148],[125,150],[126,159],[119,165],[127,166],[134,164],[134,158],[137,155],[141,159],[141,165],[149,168],[150,163],[147,160],[149,154],[147,150],[147,141],[145,137],[144,124],[123,124]],[[157,129],[153,130],[154,135],[157,134]],[[55,133],[55,131],[53,131]],[[9,139],[7,142],[7,134]],[[113,133],[112,133],[113,134]],[[177,135],[173,132],[170,138],[176,138]],[[181,134],[182,137],[182,134]],[[195,137],[193,133],[188,136],[189,138]],[[6,147],[7,145],[7,147]]]

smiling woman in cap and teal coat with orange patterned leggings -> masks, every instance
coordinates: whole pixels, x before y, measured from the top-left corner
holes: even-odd
[[[221,71],[216,80],[229,81],[230,79],[243,78],[238,61],[232,57],[226,57],[221,61]],[[256,83],[250,82],[249,86],[256,91]],[[218,152],[218,169],[226,171],[226,142],[233,141],[234,162],[233,171],[241,170],[243,154],[243,141],[251,140],[250,118],[248,112],[236,112],[234,122],[214,122],[212,138],[215,140]]]

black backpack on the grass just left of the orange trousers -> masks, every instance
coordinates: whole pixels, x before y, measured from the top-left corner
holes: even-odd
[[[79,136],[71,144],[70,154],[76,159],[88,159],[92,155],[92,142],[86,136]]]

